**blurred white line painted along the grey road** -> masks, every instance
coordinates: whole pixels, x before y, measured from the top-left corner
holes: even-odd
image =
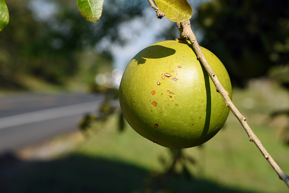
[[[12,115],[9,117],[0,118],[0,129],[19,126],[27,123],[51,120],[60,117],[78,115],[82,113],[90,113],[96,110],[102,100],[72,104],[68,106],[34,111],[31,113],[23,113],[20,115]]]

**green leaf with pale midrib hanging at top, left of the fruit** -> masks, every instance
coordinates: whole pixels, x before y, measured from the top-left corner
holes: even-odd
[[[103,1],[104,0],[77,0],[77,6],[84,19],[96,23],[102,14]]]

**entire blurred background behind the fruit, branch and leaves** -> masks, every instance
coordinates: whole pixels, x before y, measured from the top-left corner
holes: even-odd
[[[179,37],[146,0],[104,0],[97,23],[70,0],[6,0],[0,32],[0,192],[281,193],[230,113],[205,144],[170,150],[118,102],[143,48]],[[289,1],[188,0],[192,30],[231,77],[233,103],[289,174]]]

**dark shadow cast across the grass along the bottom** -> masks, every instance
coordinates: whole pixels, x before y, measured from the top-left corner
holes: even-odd
[[[1,193],[133,193],[150,179],[143,168],[99,157],[73,155],[54,161],[21,161],[11,154],[0,156]],[[245,193],[210,181],[185,177],[169,181],[172,192]],[[246,192],[249,193],[249,192]]]

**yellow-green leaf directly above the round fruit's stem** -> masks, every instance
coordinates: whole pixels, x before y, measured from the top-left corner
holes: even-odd
[[[155,0],[159,10],[165,17],[174,22],[183,22],[191,19],[193,10],[187,0]]]

